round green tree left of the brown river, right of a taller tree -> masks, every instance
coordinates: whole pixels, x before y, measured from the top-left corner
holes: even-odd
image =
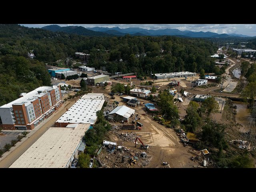
[[[210,118],[213,113],[218,112],[219,104],[214,97],[208,97],[201,105],[202,111]]]

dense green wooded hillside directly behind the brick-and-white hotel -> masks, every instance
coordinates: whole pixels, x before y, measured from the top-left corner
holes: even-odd
[[[43,85],[51,85],[44,63],[23,56],[0,56],[0,106]]]

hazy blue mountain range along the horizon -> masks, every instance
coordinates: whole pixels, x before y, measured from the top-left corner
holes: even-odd
[[[193,37],[193,38],[228,38],[228,37],[250,37],[242,34],[218,34],[213,32],[193,32],[193,31],[180,31],[178,29],[159,29],[159,30],[148,30],[143,28],[124,28],[119,27],[92,27],[84,28],[82,26],[67,26],[61,27],[58,25],[44,26],[42,29],[50,30],[53,32],[66,32],[71,34],[85,35],[85,36],[124,36],[130,34],[132,36],[182,36],[182,37]]]

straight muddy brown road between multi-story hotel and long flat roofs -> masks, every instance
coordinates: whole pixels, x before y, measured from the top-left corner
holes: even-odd
[[[0,168],[8,168],[10,167],[46,130],[48,127],[51,127],[60,116],[62,116],[66,112],[66,108],[70,108],[75,101],[71,101],[70,103],[66,104],[64,103],[62,107],[52,114],[51,119],[49,119],[47,122],[43,124],[41,128],[39,128],[34,134],[30,136],[30,134],[27,135],[28,139],[24,141],[20,146],[18,146],[15,150],[13,150],[8,156],[6,156],[4,159],[0,161]],[[38,125],[40,126],[40,125]]]

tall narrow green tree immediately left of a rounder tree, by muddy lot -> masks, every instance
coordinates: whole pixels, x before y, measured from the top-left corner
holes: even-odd
[[[188,132],[194,132],[201,122],[201,118],[197,112],[198,108],[199,104],[194,101],[191,101],[188,105],[188,108],[186,108],[187,114],[183,124],[185,125],[186,131]]]

